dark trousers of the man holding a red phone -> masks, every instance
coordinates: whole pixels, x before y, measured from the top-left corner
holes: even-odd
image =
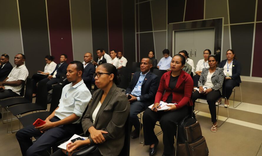
[[[56,118],[52,118],[51,122],[59,121]],[[73,126],[73,124],[69,124]],[[21,152],[23,156],[38,156],[41,155],[44,150],[47,150],[50,146],[54,145],[57,141],[65,138],[72,137],[75,130],[74,127],[67,127],[69,125],[60,125],[58,127],[51,128],[44,133],[35,129],[34,125],[24,127],[16,132],[16,139],[19,142]],[[34,144],[31,141],[31,137],[41,136]]]

